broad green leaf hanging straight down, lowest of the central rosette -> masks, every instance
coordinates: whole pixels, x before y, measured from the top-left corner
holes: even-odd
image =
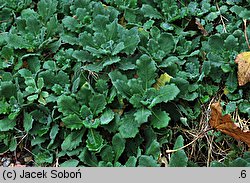
[[[122,138],[134,138],[139,132],[138,127],[140,125],[134,119],[133,114],[127,114],[121,119],[121,126],[119,132]]]

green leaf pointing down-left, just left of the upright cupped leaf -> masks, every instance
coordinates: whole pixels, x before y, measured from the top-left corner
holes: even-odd
[[[75,149],[82,142],[83,134],[85,133],[85,129],[73,131],[64,139],[61,144],[61,148],[63,151],[71,151]]]

